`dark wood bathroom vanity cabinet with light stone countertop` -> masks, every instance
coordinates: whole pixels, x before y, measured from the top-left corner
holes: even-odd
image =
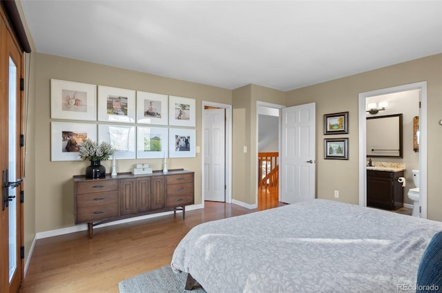
[[[385,210],[403,207],[403,177],[400,168],[367,167],[367,206]]]

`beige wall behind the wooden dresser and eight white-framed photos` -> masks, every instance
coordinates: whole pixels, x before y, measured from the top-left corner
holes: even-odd
[[[77,81],[115,88],[142,90],[189,97],[196,100],[196,145],[201,145],[202,100],[231,104],[231,90],[179,81],[152,74],[106,65],[35,54],[35,231],[44,232],[74,225],[73,175],[84,174],[85,161],[50,161],[50,79]],[[52,121],[64,121],[52,119]],[[73,122],[66,120],[64,122]],[[94,121],[92,123],[97,123]],[[118,172],[130,172],[135,162],[149,163],[162,169],[162,159],[118,160]],[[104,161],[111,171],[111,161]],[[169,159],[169,169],[184,168],[195,172],[195,203],[201,203],[201,156]],[[32,213],[30,213],[32,215]]]

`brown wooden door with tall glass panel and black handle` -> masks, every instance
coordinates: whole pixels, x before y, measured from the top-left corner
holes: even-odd
[[[0,292],[18,292],[23,279],[23,53],[3,12],[0,23]]]

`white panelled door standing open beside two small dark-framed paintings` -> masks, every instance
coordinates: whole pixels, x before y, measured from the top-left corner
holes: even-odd
[[[280,201],[315,198],[315,103],[282,109]]]

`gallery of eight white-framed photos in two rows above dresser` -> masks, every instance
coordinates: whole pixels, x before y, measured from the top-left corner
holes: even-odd
[[[85,139],[116,159],[195,157],[195,99],[51,79],[50,103],[51,161],[80,161]]]

